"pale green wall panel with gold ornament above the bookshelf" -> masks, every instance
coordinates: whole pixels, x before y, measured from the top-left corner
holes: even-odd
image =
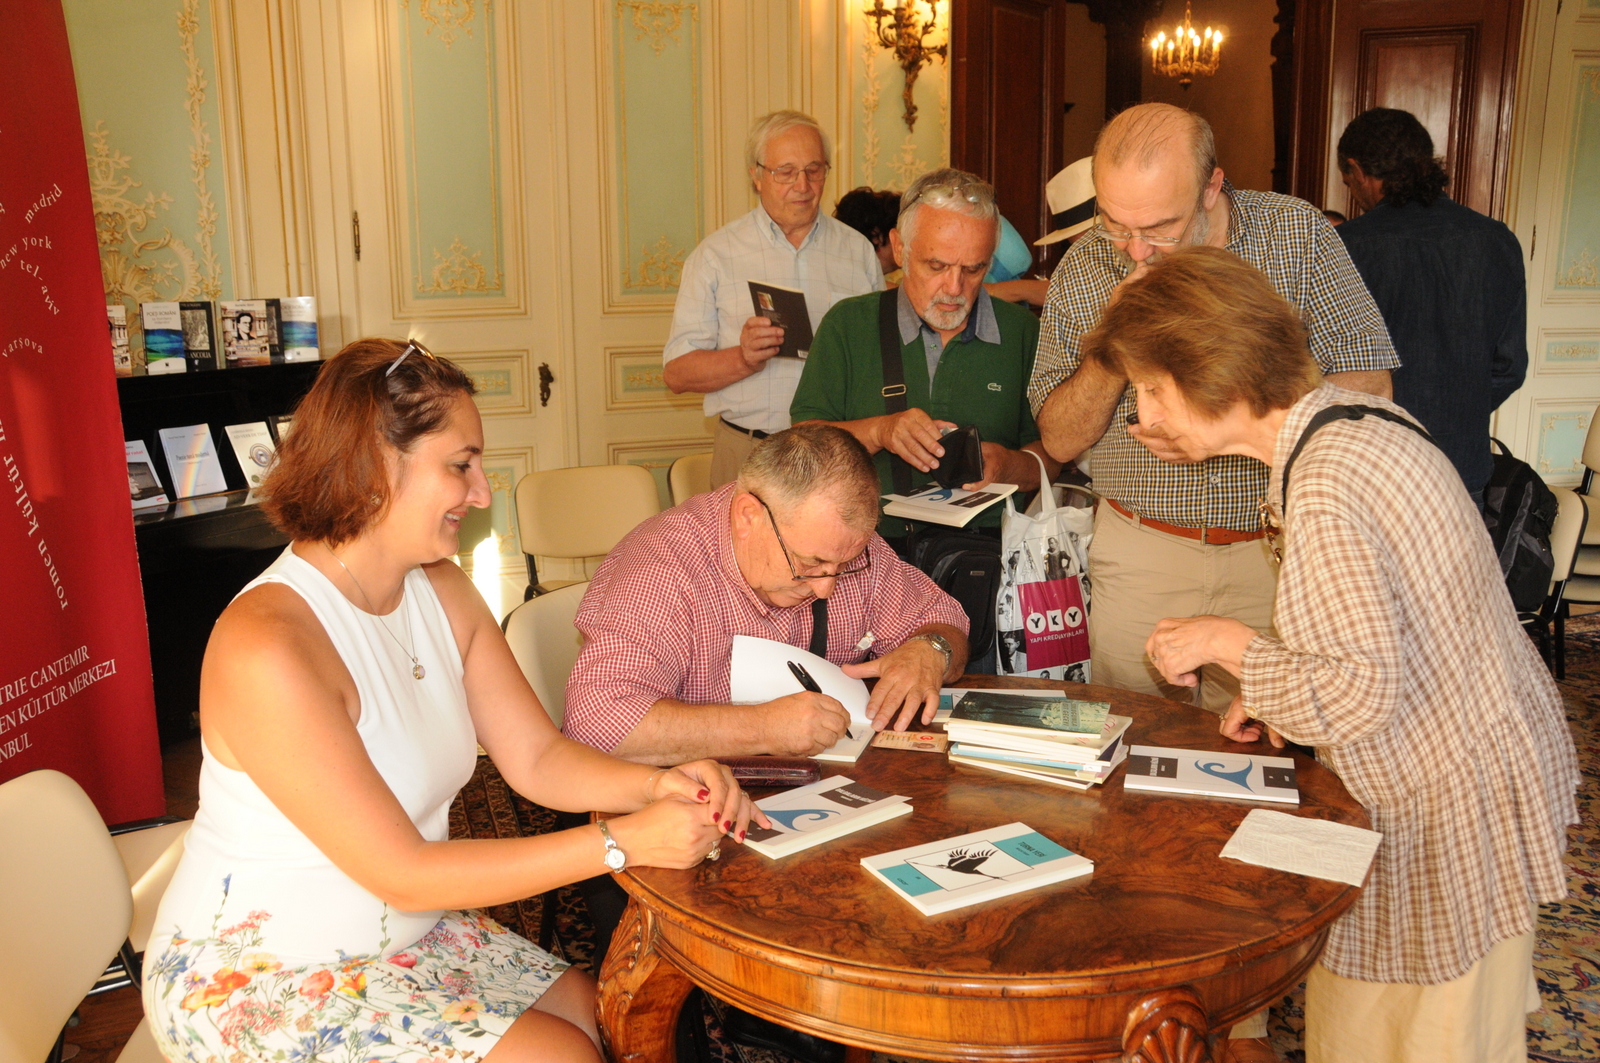
[[[130,325],[138,303],[232,298],[210,5],[62,6],[107,298],[130,307]]]

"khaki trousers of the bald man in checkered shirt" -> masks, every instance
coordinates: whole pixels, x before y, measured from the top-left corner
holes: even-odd
[[[1144,653],[1155,623],[1168,616],[1232,616],[1272,634],[1272,597],[1278,573],[1266,540],[1208,546],[1146,528],[1101,504],[1090,543],[1090,679],[1222,714],[1238,695],[1224,669],[1200,672],[1190,687],[1162,682]]]

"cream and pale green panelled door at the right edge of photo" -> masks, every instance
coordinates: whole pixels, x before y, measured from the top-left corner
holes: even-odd
[[[1600,0],[1528,6],[1507,200],[1528,267],[1528,379],[1494,434],[1550,483],[1578,483],[1600,403]]]

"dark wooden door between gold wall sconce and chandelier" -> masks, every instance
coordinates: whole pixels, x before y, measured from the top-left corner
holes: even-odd
[[[1032,243],[1050,232],[1045,183],[1062,166],[1064,2],[954,0],[950,62],[950,165],[994,184]]]

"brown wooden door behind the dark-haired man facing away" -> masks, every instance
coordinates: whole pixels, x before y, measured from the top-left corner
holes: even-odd
[[[1501,216],[1523,0],[1310,0],[1296,16],[1294,194],[1355,215],[1339,179],[1344,126],[1371,107],[1414,114],[1451,199]]]

